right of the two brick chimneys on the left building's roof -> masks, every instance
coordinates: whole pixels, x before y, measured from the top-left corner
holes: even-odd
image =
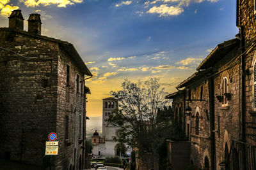
[[[40,14],[31,13],[28,18],[28,32],[41,35],[41,25]]]

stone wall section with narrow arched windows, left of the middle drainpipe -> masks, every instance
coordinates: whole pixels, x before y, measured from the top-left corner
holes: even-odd
[[[193,84],[186,87],[191,90],[191,102],[188,102],[191,107],[191,117],[186,117],[186,131],[188,131],[188,124],[190,130],[190,162],[198,167],[204,167],[205,156],[210,160],[210,115],[209,115],[209,90],[208,81],[205,77],[193,82]],[[193,101],[193,99],[202,99],[204,101]],[[186,95],[188,99],[188,91]],[[186,106],[188,106],[188,104]],[[199,115],[198,134],[196,134],[196,113]],[[186,132],[188,133],[188,132]],[[207,153],[207,154],[205,154]]]

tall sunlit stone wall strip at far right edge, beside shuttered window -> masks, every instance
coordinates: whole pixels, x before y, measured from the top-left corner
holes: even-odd
[[[239,5],[239,24],[241,27],[244,27],[245,50],[247,50],[256,40],[256,14],[254,11],[254,1],[241,0]],[[255,52],[256,48],[253,46],[252,49],[245,53],[245,69],[247,71],[246,74],[244,74],[246,96],[246,142],[252,145],[256,145],[254,136],[256,134],[256,129],[252,128],[255,127],[253,124],[256,123],[256,118],[253,116],[256,111],[253,106],[253,64],[255,63]]]

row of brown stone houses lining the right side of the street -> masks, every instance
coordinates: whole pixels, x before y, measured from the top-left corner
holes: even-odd
[[[196,73],[177,86],[186,91],[188,153],[190,163],[198,167],[256,169],[255,5],[252,0],[237,0],[236,39],[216,46]],[[182,97],[166,96],[173,103],[182,103]]]

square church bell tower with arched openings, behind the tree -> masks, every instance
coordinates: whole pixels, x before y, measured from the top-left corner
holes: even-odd
[[[114,97],[108,97],[103,100],[103,109],[102,109],[102,136],[106,140],[113,140],[112,136],[116,136],[117,127],[113,127],[106,122],[106,118],[112,113],[113,110],[118,108],[118,99]]]

